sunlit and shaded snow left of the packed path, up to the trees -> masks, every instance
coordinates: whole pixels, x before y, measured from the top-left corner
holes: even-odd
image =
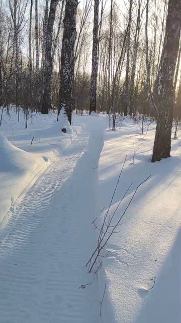
[[[63,111],[58,123],[56,114],[48,117],[34,114],[33,125],[29,118],[28,129],[24,126],[23,113],[20,113],[20,122],[17,122],[15,111],[11,110],[10,117],[4,115],[1,127],[4,135],[0,132],[1,224],[4,218],[11,216],[11,210],[20,202],[29,185],[52,161],[60,157],[60,152],[73,139],[72,129]],[[61,132],[62,128],[66,129],[66,133]]]

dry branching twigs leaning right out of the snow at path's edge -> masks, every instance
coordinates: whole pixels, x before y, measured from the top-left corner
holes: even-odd
[[[116,209],[115,209],[115,211],[113,212],[113,215],[112,215],[112,217],[111,218],[109,218],[109,221],[108,221],[108,224],[106,224],[106,222],[105,222],[105,220],[106,220],[106,217],[105,217],[105,219],[104,219],[104,223],[103,223],[103,225],[102,225],[102,227],[101,227],[101,232],[100,232],[100,235],[101,235],[101,239],[100,239],[100,235],[99,235],[99,239],[98,239],[98,246],[97,246],[97,248],[96,248],[96,250],[94,251],[94,253],[93,253],[93,255],[91,256],[91,258],[88,260],[88,262],[86,263],[86,265],[88,265],[89,264],[89,268],[88,268],[88,272],[89,273],[91,273],[92,272],[92,269],[93,269],[93,267],[94,267],[94,265],[97,263],[97,260],[98,260],[98,257],[100,257],[100,256],[102,256],[102,255],[100,255],[100,253],[101,253],[101,251],[102,250],[104,250],[104,247],[105,247],[105,245],[108,243],[108,240],[111,238],[111,236],[114,234],[114,233],[116,233],[115,232],[115,229],[120,225],[120,222],[121,222],[121,220],[122,220],[122,218],[124,217],[124,215],[125,215],[125,213],[126,213],[126,211],[127,211],[127,209],[129,208],[129,206],[130,206],[130,204],[131,204],[131,202],[132,202],[132,200],[133,200],[133,198],[134,198],[134,196],[135,196],[135,194],[136,194],[136,192],[137,192],[137,190],[138,190],[138,188],[143,184],[143,183],[145,183],[149,178],[151,177],[151,175],[149,175],[144,181],[142,181],[137,187],[136,187],[136,189],[135,189],[135,191],[134,191],[134,193],[133,193],[133,195],[132,195],[132,197],[131,197],[131,199],[130,199],[130,201],[129,201],[129,203],[128,203],[128,205],[126,206],[126,208],[125,208],[125,210],[124,210],[124,212],[122,213],[122,215],[121,215],[121,217],[120,217],[120,219],[117,221],[117,223],[115,224],[115,225],[111,225],[111,223],[112,223],[112,220],[113,220],[113,218],[114,218],[114,216],[115,216],[115,213],[116,213],[116,211],[117,211],[117,209],[119,208],[119,206],[120,206],[120,204],[121,204],[121,202],[122,202],[122,200],[124,199],[124,197],[126,196],[126,193],[129,191],[129,189],[130,189],[130,187],[131,187],[131,185],[132,184],[130,184],[130,186],[128,187],[128,189],[126,190],[126,192],[125,192],[125,194],[124,194],[124,196],[123,196],[123,198],[121,199],[121,201],[119,202],[119,204],[118,204],[118,206],[116,207]],[[111,206],[111,205],[110,205]],[[108,214],[108,213],[107,213]],[[107,227],[107,229],[106,229],[106,232],[103,232],[103,229],[104,229],[104,225],[106,225],[106,227]],[[109,232],[108,230],[111,228],[111,232]],[[94,256],[95,256],[95,258],[94,258]],[[94,260],[92,261],[92,259],[94,258]],[[91,267],[91,268],[90,268]]]

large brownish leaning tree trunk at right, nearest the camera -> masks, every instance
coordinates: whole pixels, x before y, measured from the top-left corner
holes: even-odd
[[[170,156],[174,99],[173,78],[179,48],[180,25],[181,0],[169,0],[163,55],[158,74],[158,116],[152,162]]]

